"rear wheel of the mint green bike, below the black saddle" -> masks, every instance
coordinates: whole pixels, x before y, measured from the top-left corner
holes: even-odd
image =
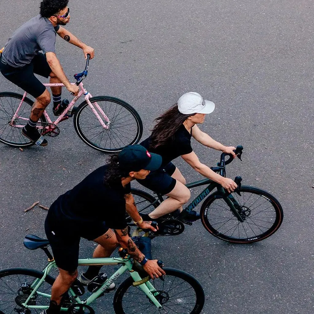
[[[44,273],[37,271],[35,269],[28,269],[28,268],[8,268],[8,269],[3,269],[0,271],[0,291],[1,291],[0,312],[2,312],[4,314],[9,314],[17,306],[19,306],[19,308],[22,308],[18,304],[18,302],[23,303],[23,301],[26,300],[25,298],[27,297],[27,293],[24,294],[25,290],[24,291],[19,290],[19,289],[21,289],[22,284],[24,283],[23,280],[19,279],[19,281],[12,281],[12,279],[10,280],[10,278],[8,278],[9,276],[17,276],[17,275],[25,276],[24,277],[25,280],[26,280],[26,276],[30,277],[30,278],[33,277],[34,279],[37,279],[37,278],[40,279],[43,277]],[[3,278],[5,278],[5,279],[3,279]],[[46,278],[45,278],[45,282],[47,283],[47,289],[49,288],[50,291],[51,291],[51,286],[54,283],[54,281],[55,281],[55,279],[49,275],[46,276]],[[25,283],[26,282],[29,282],[29,280],[25,281]],[[12,286],[11,283],[15,283],[14,286]],[[42,287],[42,285],[40,286],[40,288]],[[10,291],[10,293],[8,293],[8,295],[11,295],[11,297],[13,298],[13,301],[4,300],[6,289],[8,291]],[[44,288],[42,288],[42,289],[44,289]],[[46,290],[40,290],[40,291],[41,292],[47,292],[48,294],[51,293],[51,292],[48,292],[47,289]],[[12,292],[14,292],[14,293],[12,293]],[[15,292],[16,292],[16,295],[15,295]],[[36,302],[36,305],[38,305],[38,302],[44,303],[48,307],[49,303],[50,303],[50,299],[45,297],[41,300],[40,295],[36,295],[34,302]],[[12,305],[10,305],[10,304],[12,304]],[[43,304],[41,304],[41,305],[43,305]],[[8,311],[6,311],[6,310],[8,310]],[[40,314],[42,310],[30,309],[30,311],[31,312],[34,311],[34,312]]]

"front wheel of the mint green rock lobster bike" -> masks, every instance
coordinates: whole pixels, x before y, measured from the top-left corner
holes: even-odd
[[[132,283],[133,283],[133,278],[129,277],[127,278],[125,281],[122,282],[122,284],[118,287],[118,289],[116,290],[116,293],[114,295],[113,298],[113,308],[116,314],[129,314],[131,312],[125,312],[125,310],[127,309],[127,307],[130,308],[130,311],[133,311],[134,308],[141,310],[140,307],[143,306],[144,302],[146,302],[146,304],[149,304],[149,306],[145,309],[143,308],[143,312],[145,314],[150,314],[150,313],[160,313],[160,314],[164,314],[164,313],[180,313],[180,314],[199,314],[204,306],[204,302],[205,302],[205,295],[204,295],[204,290],[201,286],[201,284],[197,281],[197,279],[195,279],[193,276],[191,276],[190,274],[178,270],[178,269],[174,269],[174,268],[164,268],[166,276],[164,277],[165,281],[161,281],[160,279],[155,279],[154,281],[152,281],[152,284],[156,287],[156,290],[158,290],[158,287],[160,285],[163,286],[163,290],[158,290],[160,291],[160,295],[164,296],[165,299],[163,299],[162,302],[164,302],[162,305],[163,307],[161,309],[156,309],[156,307],[154,306],[154,304],[152,304],[150,302],[150,300],[147,298],[147,296],[143,293],[142,290],[140,290],[138,287],[133,287]],[[180,289],[183,289],[183,293],[184,296],[177,296],[175,295],[175,298],[171,299],[171,296],[169,295],[169,292],[171,290],[174,290],[175,287],[170,285],[171,290],[168,290],[168,292],[166,292],[164,289],[165,287],[168,286],[169,284],[169,280],[171,277],[176,277],[176,279],[182,279],[182,282],[180,284],[177,284],[177,288],[180,287]],[[174,283],[174,281],[172,282],[172,284]],[[190,286],[190,288],[186,289],[187,286]],[[126,295],[128,289],[131,288],[133,291],[135,292],[139,292],[141,296],[143,296],[143,298],[141,300],[138,300],[138,298],[136,297],[130,297],[130,300],[134,300],[134,307],[130,305],[129,299],[128,299],[128,295]],[[195,297],[193,296],[193,300],[195,298],[195,302],[193,301],[192,305],[187,304],[184,302],[183,297],[187,297],[187,290],[189,289],[193,289]],[[163,291],[163,292],[161,292]],[[135,296],[138,296],[138,294],[136,294]],[[166,297],[169,297],[169,300],[166,300]],[[125,297],[125,302],[127,302],[127,307],[123,306],[124,302],[123,302],[123,297]],[[126,300],[128,299],[128,300]],[[169,301],[171,302],[175,302],[173,304],[169,303]],[[161,303],[162,303],[161,302]],[[194,304],[195,303],[195,304]],[[180,308],[180,311],[175,311],[174,309],[171,308],[171,306],[176,306],[177,308]],[[145,307],[145,305],[144,305]],[[188,308],[188,307],[192,307],[192,308]],[[151,312],[149,312],[149,308],[151,308]],[[165,310],[164,310],[165,309]],[[157,311],[156,311],[157,310]]]

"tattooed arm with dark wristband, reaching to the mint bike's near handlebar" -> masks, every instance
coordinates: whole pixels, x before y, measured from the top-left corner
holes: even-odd
[[[145,255],[138,249],[135,243],[127,234],[127,228],[122,230],[115,230],[115,234],[119,244],[127,249],[127,252],[139,263],[143,261]],[[165,271],[157,264],[157,260],[147,260],[143,266],[144,270],[149,274],[150,278],[154,279],[161,275],[165,275]]]

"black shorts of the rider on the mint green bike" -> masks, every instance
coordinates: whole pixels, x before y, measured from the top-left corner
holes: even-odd
[[[73,272],[78,267],[79,242],[81,237],[89,241],[95,240],[105,234],[109,228],[104,221],[76,221],[60,218],[56,215],[57,204],[49,208],[45,231],[49,240],[52,255],[59,268]]]

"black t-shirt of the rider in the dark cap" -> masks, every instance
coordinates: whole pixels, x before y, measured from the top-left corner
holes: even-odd
[[[105,221],[112,229],[127,226],[124,195],[131,192],[131,185],[129,183],[123,187],[121,180],[110,187],[105,185],[107,167],[97,168],[72,190],[57,198],[52,206],[57,218],[69,219],[71,224]]]

